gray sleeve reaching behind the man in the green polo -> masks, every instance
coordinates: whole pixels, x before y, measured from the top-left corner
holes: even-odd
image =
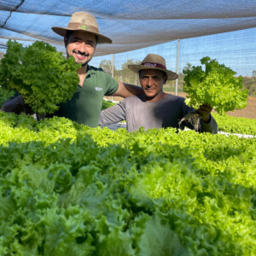
[[[119,102],[119,104],[111,108],[102,110],[99,125],[112,125],[122,120],[125,120],[125,104],[124,102]]]

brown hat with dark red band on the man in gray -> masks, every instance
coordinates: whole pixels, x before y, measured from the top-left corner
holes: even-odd
[[[128,65],[129,69],[135,73],[139,73],[143,69],[156,69],[166,73],[167,80],[177,79],[177,73],[166,69],[166,60],[160,55],[148,54],[140,65]]]

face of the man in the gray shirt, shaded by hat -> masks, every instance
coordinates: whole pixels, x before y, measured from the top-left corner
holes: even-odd
[[[147,102],[158,102],[166,96],[163,91],[166,80],[166,74],[160,70],[143,69],[140,71],[140,83]]]

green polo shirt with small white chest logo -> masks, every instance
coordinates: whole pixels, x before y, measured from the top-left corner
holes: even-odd
[[[62,103],[54,115],[96,127],[99,124],[103,96],[112,95],[118,88],[118,82],[108,73],[88,65],[83,86],[78,85],[72,99]]]

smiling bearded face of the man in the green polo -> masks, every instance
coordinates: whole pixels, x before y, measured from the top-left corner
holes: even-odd
[[[74,31],[64,39],[67,57],[73,56],[77,63],[87,66],[96,49],[96,36],[88,32]]]

